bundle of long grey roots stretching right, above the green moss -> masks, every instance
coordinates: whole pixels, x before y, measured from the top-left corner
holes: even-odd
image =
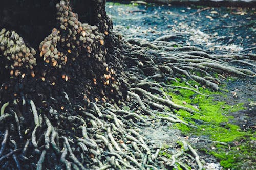
[[[163,36],[163,40],[167,42],[168,38],[166,39],[165,37],[169,36]],[[138,38],[136,40],[138,41]],[[131,43],[133,41],[130,39],[128,42]],[[180,47],[173,47],[172,49],[166,50],[162,48],[162,39],[159,43],[157,42],[158,39],[152,43],[154,43],[158,49],[152,48],[151,50],[140,46],[131,48],[130,46],[132,46],[132,44],[126,45],[129,53],[137,56],[132,60],[135,63],[139,63],[138,67],[145,75],[170,74],[172,77],[177,78],[185,76],[186,79],[194,80],[214,90],[219,89],[218,84],[220,82],[217,78],[212,76],[212,74],[216,72],[223,75],[255,76],[253,71],[228,65],[218,54],[210,54],[197,47],[190,46],[189,48],[185,48],[180,45]],[[126,59],[131,60],[129,57]],[[243,61],[243,63],[254,66],[254,64],[248,61]],[[154,79],[154,77],[152,78]],[[168,79],[168,77],[164,76],[163,79]],[[142,83],[142,81],[140,81],[140,83]]]

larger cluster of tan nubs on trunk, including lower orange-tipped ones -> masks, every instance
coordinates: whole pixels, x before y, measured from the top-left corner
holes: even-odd
[[[56,4],[56,9],[58,27],[40,43],[40,56],[56,68],[69,63],[70,66],[62,71],[62,78],[66,81],[70,77],[86,76],[91,79],[91,83],[84,85],[89,91],[93,86],[99,88],[102,96],[105,96],[106,91],[118,91],[121,83],[115,79],[115,65],[110,67],[106,61],[108,48],[105,47],[105,37],[109,34],[106,28],[102,32],[95,25],[81,23],[78,14],[72,12],[68,0],[61,0]],[[71,72],[76,73],[71,76]]]

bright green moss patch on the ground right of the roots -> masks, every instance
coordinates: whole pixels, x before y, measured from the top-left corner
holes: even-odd
[[[185,82],[181,82],[180,79],[178,81],[178,83],[169,82],[169,84],[190,87]],[[195,82],[189,82],[189,84],[196,85]],[[192,114],[184,110],[174,110],[180,119],[196,125],[197,129],[178,123],[170,128],[178,128],[187,136],[197,136],[227,143],[227,145],[212,143],[210,149],[203,146],[200,148],[201,151],[218,158],[224,169],[241,169],[244,161],[247,161],[249,166],[253,165],[251,160],[253,160],[253,156],[255,160],[255,155],[251,143],[255,142],[255,132],[253,130],[242,131],[238,125],[229,123],[230,119],[234,119],[229,114],[245,109],[244,104],[237,103],[230,106],[225,101],[218,101],[218,96],[222,96],[222,99],[226,97],[227,90],[214,92],[199,87],[199,91],[209,96],[203,96],[182,88],[168,89],[166,93],[172,97],[174,103],[199,112]]]

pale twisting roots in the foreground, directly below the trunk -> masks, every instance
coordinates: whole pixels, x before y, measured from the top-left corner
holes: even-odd
[[[137,113],[109,107],[109,104],[98,107],[91,103],[87,109],[72,104],[66,106],[67,111],[74,108],[73,112],[59,113],[52,106],[48,112],[38,114],[39,108],[33,101],[26,101],[30,101],[24,105],[26,108],[31,106],[34,121],[26,127],[27,130],[22,126],[22,137],[31,136],[31,140],[18,142],[17,131],[13,129],[16,127],[12,127],[16,123],[14,112],[22,115],[24,112],[16,110],[17,107],[13,107],[15,104],[11,104],[15,109],[10,114],[10,131],[6,129],[1,136],[0,165],[3,169],[51,169],[59,166],[66,169],[158,169],[161,160],[165,168],[175,167],[167,158],[159,155],[160,148],[151,145],[136,128],[127,124],[126,120],[133,119],[133,122],[138,120],[141,125],[148,125],[147,120]],[[18,119],[23,125],[21,117]],[[167,117],[157,119],[180,122]],[[15,141],[15,147],[12,147],[11,140]],[[53,158],[52,161],[48,159],[49,156]],[[12,164],[13,161],[16,163]]]

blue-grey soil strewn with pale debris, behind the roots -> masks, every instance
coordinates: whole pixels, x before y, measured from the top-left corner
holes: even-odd
[[[246,50],[255,47],[254,8],[155,4],[132,6],[117,3],[114,7],[113,5],[115,3],[109,3],[106,11],[116,29],[129,37],[154,40],[166,33],[194,32],[199,36],[207,34],[208,37],[199,42],[188,39],[187,42],[191,45],[213,50],[255,52],[255,49]],[[205,10],[197,12],[202,9]]]

